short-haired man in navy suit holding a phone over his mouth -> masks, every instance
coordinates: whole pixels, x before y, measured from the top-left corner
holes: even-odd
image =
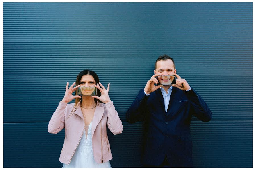
[[[205,101],[176,74],[174,60],[160,56],[155,63],[155,75],[141,89],[127,110],[128,122],[144,121],[144,167],[192,167],[190,121],[192,115],[203,122],[212,118]],[[177,77],[176,84],[163,75]],[[163,76],[159,81],[156,76]],[[173,76],[172,76],[173,77]]]

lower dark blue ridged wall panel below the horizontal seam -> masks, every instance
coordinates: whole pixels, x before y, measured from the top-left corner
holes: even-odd
[[[64,130],[49,134],[47,125],[4,124],[4,167],[62,167]],[[112,167],[141,167],[142,133],[142,122],[123,122],[120,135],[108,130]],[[194,167],[252,167],[252,121],[193,121],[191,136]]]

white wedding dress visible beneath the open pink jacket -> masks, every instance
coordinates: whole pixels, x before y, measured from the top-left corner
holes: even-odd
[[[85,127],[86,128],[86,127]],[[80,143],[75,150],[69,165],[63,163],[63,168],[111,168],[110,162],[96,163],[93,158],[92,150],[92,122],[87,125],[88,134],[83,131]]]

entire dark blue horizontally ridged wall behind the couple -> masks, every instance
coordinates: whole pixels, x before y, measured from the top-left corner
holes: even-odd
[[[141,167],[143,122],[125,113],[168,54],[207,102],[193,117],[194,167],[252,167],[252,3],[3,3],[3,166],[62,167],[64,131],[47,132],[65,93],[94,70],[123,122],[112,167]],[[72,103],[72,102],[71,102]]]

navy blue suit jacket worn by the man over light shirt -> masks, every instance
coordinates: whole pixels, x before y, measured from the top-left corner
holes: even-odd
[[[160,89],[149,96],[140,90],[126,118],[130,123],[144,121],[144,165],[159,166],[166,155],[171,167],[192,167],[192,115],[203,122],[212,118],[209,107],[193,88],[185,92],[173,87],[167,113]]]

